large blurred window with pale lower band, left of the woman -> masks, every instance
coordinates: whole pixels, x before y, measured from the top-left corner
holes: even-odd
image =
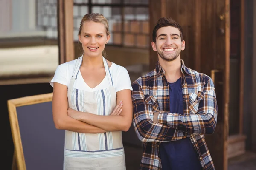
[[[11,2],[1,0],[0,6],[6,16],[0,22],[7,23],[0,25],[0,81],[49,82],[58,66],[57,0]]]

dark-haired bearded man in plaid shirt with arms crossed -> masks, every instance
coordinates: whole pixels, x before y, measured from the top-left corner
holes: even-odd
[[[156,68],[132,85],[140,170],[215,170],[204,139],[217,121],[212,79],[184,65],[182,28],[171,18],[158,20],[151,45]]]

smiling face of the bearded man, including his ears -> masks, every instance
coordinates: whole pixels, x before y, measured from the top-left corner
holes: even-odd
[[[181,41],[180,30],[166,26],[157,30],[156,43],[151,42],[154,51],[166,61],[180,58],[180,51],[185,49],[185,41]]]

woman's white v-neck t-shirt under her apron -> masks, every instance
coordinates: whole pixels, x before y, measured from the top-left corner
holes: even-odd
[[[58,82],[62,85],[68,86],[70,83],[70,79],[73,75],[75,65],[76,65],[76,60],[72,60],[70,62],[65,62],[61,65],[58,65],[58,67],[55,71],[54,77],[52,78],[52,80],[50,82],[52,87],[53,87],[53,82]],[[111,74],[116,92],[124,90],[124,89],[132,90],[131,79],[129,77],[129,74],[128,74],[128,71],[126,70],[126,68],[112,62],[112,65],[109,68],[109,70],[110,70],[110,74]],[[108,83],[108,77],[106,75],[105,78],[102,80],[102,82],[99,85],[97,85],[95,88],[90,88],[84,82],[84,79],[81,75],[80,70],[77,75],[77,79],[74,82],[74,88],[77,88],[80,90],[85,90],[85,91],[90,91],[90,92],[108,88],[108,87],[109,87],[109,83]]]

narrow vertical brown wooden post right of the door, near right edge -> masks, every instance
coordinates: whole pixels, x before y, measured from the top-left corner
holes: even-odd
[[[244,0],[241,0],[240,21],[240,91],[239,91],[239,134],[243,134],[244,122]]]

